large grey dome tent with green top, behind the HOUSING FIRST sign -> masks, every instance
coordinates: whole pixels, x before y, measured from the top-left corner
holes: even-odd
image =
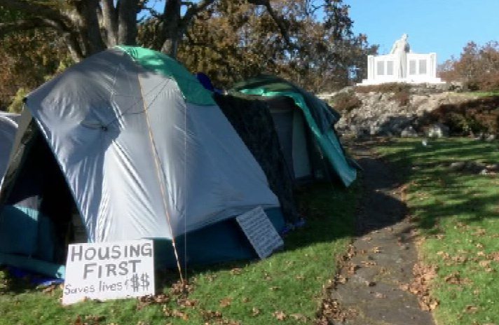
[[[182,263],[256,257],[234,220],[254,207],[284,227],[264,172],[210,92],[166,55],[105,50],[25,106],[32,120],[0,193],[0,263],[63,277],[71,214],[89,242],[153,238],[156,263],[169,266],[175,239]]]

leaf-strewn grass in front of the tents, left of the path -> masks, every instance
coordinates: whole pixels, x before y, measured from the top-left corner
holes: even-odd
[[[0,324],[310,324],[323,286],[354,231],[360,186],[317,184],[300,195],[306,226],[285,237],[285,250],[264,261],[189,270],[178,292],[175,272],[160,272],[151,301],[86,301],[62,307],[59,288],[43,290],[0,270]],[[156,285],[158,289],[158,284]]]

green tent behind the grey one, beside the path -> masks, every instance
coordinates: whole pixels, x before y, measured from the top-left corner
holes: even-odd
[[[334,172],[345,186],[355,180],[358,165],[347,157],[334,131],[340,115],[324,101],[282,78],[268,75],[242,81],[230,92],[267,99],[282,151],[296,179],[323,178],[321,164],[317,163],[317,157],[322,157],[327,162],[325,170]],[[307,136],[311,138],[308,143]]]

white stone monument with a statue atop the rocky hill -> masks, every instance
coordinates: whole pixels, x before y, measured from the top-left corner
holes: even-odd
[[[413,53],[407,38],[407,34],[403,34],[395,41],[388,55],[369,55],[367,79],[357,85],[444,83],[437,78],[437,53]]]

